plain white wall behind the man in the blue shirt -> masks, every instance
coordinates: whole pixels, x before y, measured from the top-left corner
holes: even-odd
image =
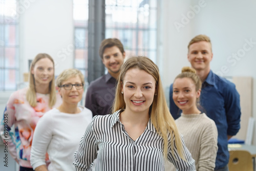
[[[182,15],[193,14],[191,7],[196,5],[201,6],[200,10],[194,8],[195,15],[190,15],[187,22]],[[164,30],[160,38],[163,44],[161,61],[165,65],[161,62],[159,65],[164,67],[161,69],[161,75],[166,89],[183,66],[190,66],[186,57],[187,44],[198,34],[206,34],[211,38],[214,53],[211,69],[214,72],[223,76],[251,76],[256,79],[255,1],[164,0],[162,7],[162,20],[165,22],[162,22]],[[175,22],[184,27],[177,29]],[[247,41],[253,42],[251,47]],[[232,54],[238,54],[237,58],[232,57]],[[255,84],[253,89],[256,90]],[[253,91],[253,99],[256,99],[255,92]],[[252,106],[255,106],[256,100],[252,102]],[[256,109],[253,108],[252,112],[256,119]],[[256,126],[254,135],[255,133]],[[256,145],[256,136],[253,137],[253,144]]]

